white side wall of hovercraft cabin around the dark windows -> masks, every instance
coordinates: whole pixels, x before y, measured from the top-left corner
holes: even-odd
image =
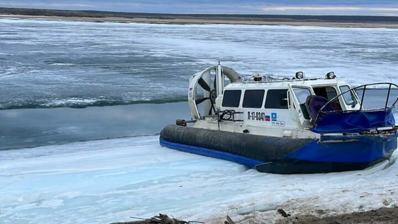
[[[242,94],[240,96],[240,104],[236,108],[231,107],[223,107],[222,106],[222,96],[220,95],[217,100],[217,105],[220,110],[235,110],[236,112],[243,112],[243,114],[235,114],[235,120],[243,120],[242,122],[232,122],[232,121],[221,121],[217,122],[217,117],[206,117],[205,120],[198,120],[193,126],[195,128],[205,128],[212,130],[221,130],[227,132],[238,132],[242,133],[244,130],[248,130],[249,134],[256,134],[262,136],[274,136],[280,138],[319,138],[320,135],[309,130],[312,127],[312,124],[309,120],[306,120],[304,124],[301,124],[299,119],[299,114],[296,108],[299,108],[299,105],[295,105],[296,108],[293,107],[295,103],[295,96],[291,91],[289,95],[289,109],[268,109],[264,108],[265,100],[267,98],[267,90],[270,89],[290,89],[289,84],[294,85],[307,85],[307,86],[317,86],[317,85],[325,85],[325,86],[338,86],[339,84],[345,84],[341,81],[337,80],[310,80],[310,81],[285,81],[285,82],[268,82],[268,83],[232,83],[225,86],[225,90],[242,90]],[[261,108],[243,108],[243,99],[245,90],[265,90],[263,103]],[[338,91],[339,92],[339,91]],[[296,103],[297,104],[297,103]],[[289,104],[288,104],[289,105]],[[248,112],[255,113],[256,119],[248,119]],[[256,113],[257,117],[256,117]],[[261,115],[259,115],[261,113]],[[283,123],[274,123],[272,119],[272,113],[276,114],[275,122],[284,122]],[[259,117],[258,117],[259,116]],[[270,117],[270,121],[265,121],[265,116]],[[274,117],[275,120],[275,117]]]

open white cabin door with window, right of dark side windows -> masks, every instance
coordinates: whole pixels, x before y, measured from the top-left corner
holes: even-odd
[[[314,90],[310,85],[292,83],[289,84],[289,94],[289,109],[293,112],[295,120],[302,126],[311,126],[305,101],[308,96],[315,95]]]

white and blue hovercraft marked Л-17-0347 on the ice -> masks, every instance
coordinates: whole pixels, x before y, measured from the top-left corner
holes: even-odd
[[[366,110],[370,88],[386,89],[382,107]],[[225,159],[267,173],[359,170],[397,148],[393,83],[352,88],[336,78],[256,74],[242,77],[214,65],[195,73],[188,89],[191,120],[160,132],[160,145]]]

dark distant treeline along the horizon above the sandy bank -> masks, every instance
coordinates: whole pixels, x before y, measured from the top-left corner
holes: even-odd
[[[398,16],[308,16],[308,15],[263,15],[263,14],[163,14],[106,11],[47,10],[28,8],[0,8],[0,14],[25,16],[66,16],[66,17],[121,17],[156,19],[218,19],[218,20],[259,20],[297,22],[398,22]]]

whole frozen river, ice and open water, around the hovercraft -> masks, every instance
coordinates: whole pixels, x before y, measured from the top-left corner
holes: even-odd
[[[273,175],[158,144],[164,125],[189,118],[189,75],[217,61],[244,75],[334,71],[357,85],[397,83],[397,58],[397,29],[0,19],[0,223],[159,212],[271,223],[276,208],[398,206],[397,152],[364,171]]]

